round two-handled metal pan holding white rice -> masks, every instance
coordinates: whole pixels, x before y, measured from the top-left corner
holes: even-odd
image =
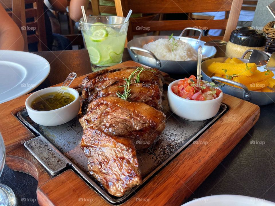
[[[199,38],[182,37],[187,29],[201,32]],[[201,36],[200,29],[185,28],[180,36],[174,36],[174,42],[171,36],[139,37],[129,41],[127,49],[132,60],[140,64],[158,68],[170,75],[195,74],[198,47],[203,47],[203,61],[213,58],[217,52],[214,46],[204,45],[205,41],[200,40]]]

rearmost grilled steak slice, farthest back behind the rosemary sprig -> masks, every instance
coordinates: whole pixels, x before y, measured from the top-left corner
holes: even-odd
[[[85,83],[85,86],[82,90],[82,98],[86,99],[90,97],[92,94],[103,90],[109,86],[122,86],[125,84],[125,78],[129,78],[131,73],[136,68],[128,68],[128,69],[121,69],[121,70],[107,70],[105,72],[100,71],[97,74],[91,74],[83,80],[82,84]],[[163,85],[163,77],[161,76],[159,70],[152,69],[155,72],[144,70],[140,74],[140,83],[144,84],[157,84],[160,88]],[[113,72],[114,71],[114,72]],[[137,75],[137,73],[136,73]],[[131,83],[135,83],[135,77],[131,79]],[[87,82],[89,80],[89,82]]]

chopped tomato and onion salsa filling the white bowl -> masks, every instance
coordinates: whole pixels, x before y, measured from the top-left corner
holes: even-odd
[[[188,100],[205,101],[216,99],[221,90],[214,88],[212,82],[201,82],[197,84],[197,79],[194,75],[189,78],[184,78],[178,82],[178,85],[172,86],[174,94]]]

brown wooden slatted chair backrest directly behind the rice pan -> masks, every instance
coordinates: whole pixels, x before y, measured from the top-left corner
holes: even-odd
[[[128,41],[133,38],[132,32],[135,32],[136,28],[140,27],[150,28],[150,31],[183,30],[186,27],[225,29],[225,35],[222,38],[225,41],[228,41],[231,31],[236,29],[241,5],[242,1],[240,0],[115,0],[117,15],[124,17],[127,15],[129,9],[132,9],[133,13],[197,13],[230,11],[229,18],[223,20],[130,21],[127,33]],[[217,38],[221,39],[221,37],[212,37],[211,39]]]

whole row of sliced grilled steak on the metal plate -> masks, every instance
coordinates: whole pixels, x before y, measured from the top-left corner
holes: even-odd
[[[142,71],[137,84],[136,73],[127,101],[117,97],[135,69],[105,69],[82,81],[81,148],[91,175],[118,197],[142,183],[136,150],[148,148],[165,128],[165,114],[159,111],[164,83],[159,70]]]

